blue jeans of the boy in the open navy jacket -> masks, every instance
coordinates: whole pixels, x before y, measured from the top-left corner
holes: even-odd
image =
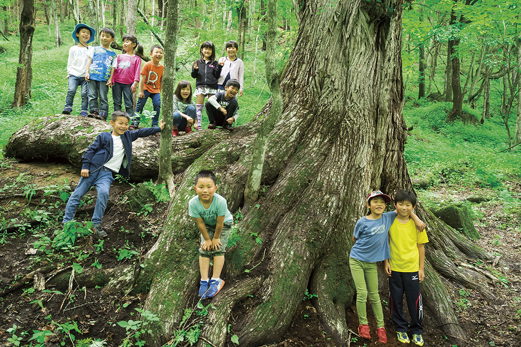
[[[105,168],[105,166],[89,173],[89,177],[81,177],[78,186],[72,192],[69,201],[67,201],[63,223],[74,219],[81,198],[89,191],[89,189],[91,189],[91,187],[96,187],[98,195],[96,206],[94,207],[94,214],[92,215],[92,224],[94,224],[94,226],[100,225],[101,217],[103,217],[105,209],[107,208],[108,190],[110,189],[110,184],[112,182],[114,182],[112,170]]]

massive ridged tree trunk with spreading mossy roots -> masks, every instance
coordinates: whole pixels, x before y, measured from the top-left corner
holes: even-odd
[[[227,344],[229,324],[241,346],[277,341],[290,326],[306,288],[318,295],[313,304],[324,329],[338,345],[346,345],[346,314],[355,296],[349,269],[351,236],[355,222],[365,212],[365,196],[375,188],[390,195],[402,188],[412,190],[401,114],[403,0],[328,4],[329,0],[318,0],[300,8],[299,34],[281,81],[282,114],[266,149],[261,182],[267,188],[234,228],[239,241],[227,250],[222,272],[226,285],[212,299],[215,307],[200,317],[204,321],[201,337],[214,346]],[[210,138],[196,133],[178,138],[172,145],[172,165],[176,165],[172,170],[184,173],[184,179],[172,199],[163,233],[143,259],[144,267],[133,287],[135,293],[147,293],[144,309],[159,317],[150,326],[153,332],[147,340],[151,346],[169,341],[184,310],[197,303],[200,235],[187,214],[193,177],[203,168],[215,170],[219,194],[226,197],[230,211],[238,211],[256,130],[270,108],[268,102],[233,134],[215,132]],[[329,115],[327,122],[317,123],[322,114]],[[81,142],[84,150],[99,130],[84,130],[90,137],[80,139],[71,134],[78,128],[78,119],[57,118],[63,119],[32,122],[31,136],[38,138],[34,142],[45,148],[53,141],[58,143],[38,137],[45,128],[55,127],[61,147],[55,145],[54,152],[61,148],[80,156],[81,148],[69,142],[76,146]],[[70,119],[73,121],[66,125]],[[20,146],[14,142],[11,138],[6,150]],[[146,152],[138,151],[137,146],[134,143],[134,159],[144,158],[142,162],[154,165],[153,143],[147,144]],[[132,173],[134,165],[133,160]],[[427,277],[422,284],[426,307],[454,344],[463,343],[465,332],[439,274],[493,298],[483,276],[454,263],[492,256],[426,213],[420,204],[416,212],[429,226]],[[257,243],[252,235],[262,242]],[[247,313],[235,314],[244,308],[241,301],[248,295],[254,300]],[[235,320],[229,320],[230,315]]]

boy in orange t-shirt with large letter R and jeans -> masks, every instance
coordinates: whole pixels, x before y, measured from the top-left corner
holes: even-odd
[[[150,48],[151,61],[147,61],[141,70],[141,79],[139,81],[138,104],[135,106],[136,116],[130,124],[131,130],[136,130],[139,126],[141,112],[145,107],[146,100],[152,98],[154,106],[154,117],[152,118],[152,126],[157,126],[159,120],[159,112],[161,111],[161,88],[163,84],[163,65],[159,62],[163,59],[163,47],[154,45]]]

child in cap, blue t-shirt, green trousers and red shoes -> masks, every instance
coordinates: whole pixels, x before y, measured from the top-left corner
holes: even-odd
[[[396,211],[384,212],[391,198],[380,190],[371,191],[366,198],[366,207],[370,214],[362,217],[355,224],[353,232],[354,245],[349,254],[349,266],[356,287],[356,310],[358,312],[358,333],[370,340],[367,324],[367,297],[377,324],[378,341],[387,343],[387,333],[383,324],[383,311],[378,294],[378,271],[376,262],[391,258],[389,252],[388,232],[396,218]],[[418,229],[423,230],[425,224],[411,213],[411,219]]]

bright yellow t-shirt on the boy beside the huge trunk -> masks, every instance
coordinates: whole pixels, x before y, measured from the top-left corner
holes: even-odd
[[[389,228],[389,250],[392,271],[416,272],[420,269],[420,254],[417,243],[427,243],[427,232],[416,230],[413,220],[403,224],[394,219]]]

